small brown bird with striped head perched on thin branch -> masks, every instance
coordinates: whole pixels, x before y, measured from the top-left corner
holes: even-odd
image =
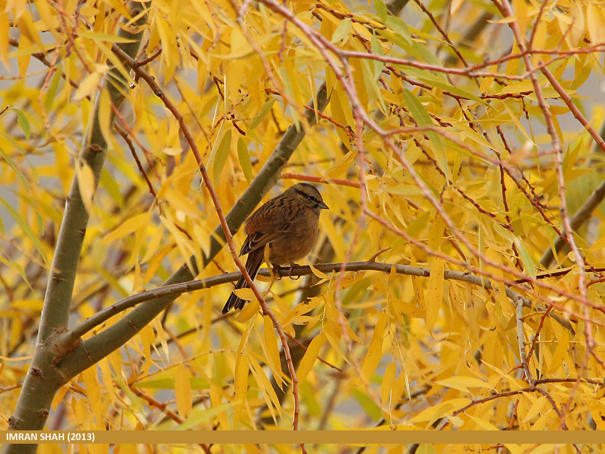
[[[309,183],[297,183],[253,212],[244,225],[247,237],[240,251],[240,257],[248,254],[246,270],[250,278],[256,277],[264,262],[267,244],[272,265],[293,266],[294,262],[306,257],[317,240],[322,209],[329,208],[317,188]],[[243,276],[235,285],[236,290],[247,287]],[[232,293],[223,314],[232,308],[243,309],[245,303]]]

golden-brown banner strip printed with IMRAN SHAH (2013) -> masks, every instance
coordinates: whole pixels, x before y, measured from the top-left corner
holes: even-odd
[[[85,444],[594,444],[605,443],[605,433],[584,430],[482,431],[457,430],[91,430],[0,431],[3,443]]]

